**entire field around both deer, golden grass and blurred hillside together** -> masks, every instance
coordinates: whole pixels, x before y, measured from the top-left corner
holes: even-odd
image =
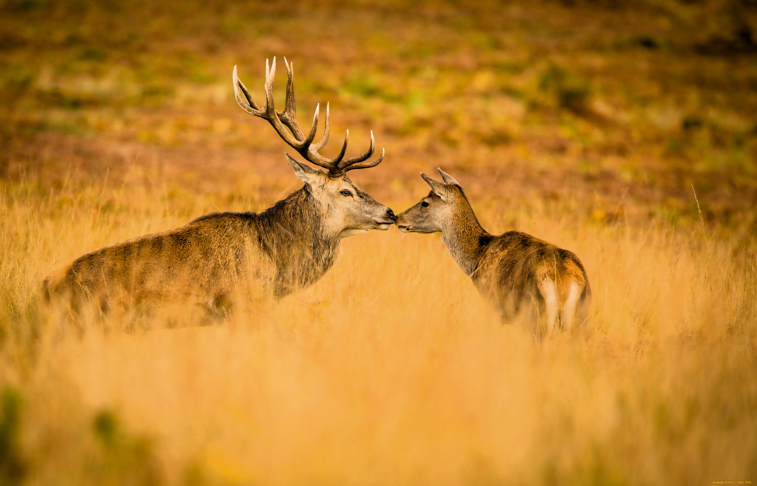
[[[0,5],[0,484],[757,481],[755,2]],[[220,326],[40,317],[80,254],[299,187],[232,95],[274,55],[301,123],[373,129],[379,201],[442,167],[490,232],[575,251],[585,335],[501,326],[394,229]]]

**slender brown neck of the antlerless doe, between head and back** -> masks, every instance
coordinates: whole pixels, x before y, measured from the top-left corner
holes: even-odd
[[[491,235],[481,227],[468,201],[454,208],[453,218],[442,229],[441,239],[467,276],[472,276]]]

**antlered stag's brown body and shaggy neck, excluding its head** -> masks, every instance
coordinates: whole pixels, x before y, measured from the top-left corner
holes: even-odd
[[[152,306],[189,301],[223,310],[242,297],[277,298],[315,282],[339,241],[306,188],[261,213],[212,213],[178,229],[83,255],[45,279],[49,300]]]

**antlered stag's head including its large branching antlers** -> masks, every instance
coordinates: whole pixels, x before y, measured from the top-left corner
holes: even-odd
[[[237,103],[248,114],[267,120],[279,136],[310,164],[326,169],[326,172],[315,169],[285,154],[291,166],[294,167],[294,174],[305,183],[307,191],[321,204],[326,213],[326,224],[332,226],[332,229],[335,229],[341,237],[356,235],[371,229],[389,229],[389,226],[397,219],[394,211],[361,191],[347,177],[349,170],[368,169],[380,164],[384,158],[384,149],[382,148],[380,157],[366,161],[375,151],[375,141],[371,131],[371,143],[368,150],[363,154],[344,158],[344,154],[347,153],[347,139],[350,135],[350,131],[347,130],[344,143],[336,157],[329,159],[319,154],[318,152],[326,146],[326,142],[329,142],[329,104],[326,104],[323,135],[318,142],[314,142],[318,129],[320,105],[316,105],[313,123],[306,135],[297,123],[297,107],[294,102],[294,83],[292,82],[294,67],[292,63],[286,61],[286,58],[284,58],[284,64],[288,77],[284,111],[277,111],[273,106],[273,76],[276,73],[276,58],[273,58],[270,67],[266,59],[266,102],[263,107],[255,104],[248,89],[238,79],[236,66],[234,67],[232,78]]]

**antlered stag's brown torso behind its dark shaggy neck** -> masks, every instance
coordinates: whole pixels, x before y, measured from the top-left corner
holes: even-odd
[[[115,301],[220,304],[246,279],[252,262],[270,266],[254,241],[258,218],[255,213],[214,213],[178,229],[100,248],[45,279],[45,296],[86,299],[104,308]]]

